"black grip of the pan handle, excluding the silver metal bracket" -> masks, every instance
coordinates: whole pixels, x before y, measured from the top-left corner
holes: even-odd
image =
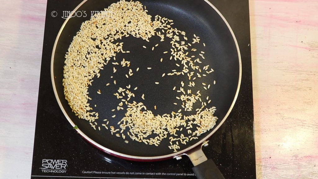
[[[212,159],[208,159],[192,168],[197,179],[225,179]]]

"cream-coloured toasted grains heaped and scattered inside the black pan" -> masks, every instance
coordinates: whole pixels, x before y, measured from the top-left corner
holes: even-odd
[[[174,152],[180,149],[180,144],[187,144],[191,140],[198,139],[198,136],[213,128],[218,118],[213,116],[215,107],[206,107],[211,102],[209,96],[202,98],[199,90],[184,90],[184,86],[187,84],[188,88],[197,85],[194,82],[196,78],[214,72],[209,65],[200,67],[202,60],[205,59],[203,51],[198,56],[189,56],[189,52],[197,51],[192,45],[200,43],[200,37],[193,34],[193,38],[189,40],[184,31],[172,27],[173,20],[168,18],[156,15],[152,21],[152,17],[147,14],[146,7],[138,1],[121,0],[111,4],[105,11],[111,11],[112,16],[99,19],[92,17],[82,23],[80,31],[74,36],[65,55],[64,94],[75,115],[87,120],[95,130],[101,130],[101,127],[109,130],[112,135],[121,137],[125,143],[129,142],[126,136],[131,140],[155,146],[168,138],[170,141],[168,147]],[[111,110],[125,110],[125,117],[119,120],[116,115],[113,115],[108,119],[100,120],[98,112],[94,112],[89,104],[91,98],[88,96],[88,88],[92,85],[95,76],[100,77],[100,70],[103,70],[109,62],[116,65],[112,69],[113,73],[116,73],[118,68],[129,68],[133,63],[133,61],[125,59],[122,59],[120,63],[116,62],[116,54],[130,53],[130,51],[123,50],[123,43],[114,41],[130,35],[148,42],[152,36],[160,37],[160,42],[170,41],[170,50],[164,51],[163,54],[170,53],[169,60],[174,60],[176,67],[178,69],[182,67],[182,70],[173,69],[164,72],[162,77],[165,75],[172,78],[173,75],[187,76],[187,82],[181,81],[179,86],[166,89],[177,92],[176,99],[179,103],[174,103],[174,105],[180,106],[180,109],[163,115],[154,115],[142,103],[143,100],[146,100],[146,96],[142,94],[141,97],[136,97],[134,91],[138,90],[138,87],[127,84],[114,91],[114,97],[119,102],[117,108]],[[154,51],[160,42],[149,48]],[[204,43],[203,46],[205,47]],[[147,49],[146,46],[142,46],[142,48]],[[160,61],[163,62],[163,58]],[[147,68],[147,70],[151,69],[151,67]],[[129,78],[138,71],[139,68],[129,68],[125,77]],[[115,79],[113,83],[107,83],[106,86],[116,85]],[[158,81],[154,83],[160,85]],[[211,84],[202,83],[204,90],[208,90],[210,87]],[[100,90],[97,93],[102,94]],[[200,103],[201,107],[193,109],[193,105],[196,103]],[[156,105],[153,109],[156,110]],[[193,111],[194,114],[183,115],[183,111]],[[117,126],[109,126],[110,120],[119,122]]]

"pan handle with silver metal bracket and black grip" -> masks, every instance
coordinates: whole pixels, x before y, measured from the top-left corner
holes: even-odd
[[[224,176],[213,162],[212,159],[207,159],[202,151],[202,146],[208,145],[208,141],[201,146],[186,153],[193,163],[193,172],[197,179],[224,179]]]

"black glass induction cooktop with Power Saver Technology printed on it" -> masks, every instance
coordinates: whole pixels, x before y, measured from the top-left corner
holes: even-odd
[[[231,26],[239,44],[242,81],[237,101],[225,123],[203,147],[225,178],[256,178],[252,67],[248,0],[210,0]],[[155,178],[194,179],[189,158],[154,162],[128,161],[87,143],[66,120],[54,96],[51,55],[56,36],[70,11],[81,1],[48,0],[38,94],[31,179]],[[106,8],[106,7],[105,7]],[[91,15],[81,12],[77,15]]]

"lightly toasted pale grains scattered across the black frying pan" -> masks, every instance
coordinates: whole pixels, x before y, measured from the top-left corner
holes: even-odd
[[[138,33],[132,33],[135,32],[134,27],[130,28],[129,26],[125,25],[122,22],[128,22],[130,20],[132,20],[132,17],[129,16],[129,13],[124,14],[123,16],[122,13],[116,13],[118,11],[122,11],[121,8],[116,8],[116,7],[125,7],[128,11],[133,11],[136,12],[138,14],[138,20],[141,20],[142,22],[146,22],[146,23],[142,23],[142,24],[138,24],[138,27],[140,27],[141,31],[143,32],[142,35],[138,34]],[[191,53],[196,53],[195,55],[192,56],[197,56],[198,53],[196,51],[200,51],[200,49],[196,49],[196,48],[192,48],[190,47],[191,44],[187,42],[187,38],[186,38],[186,33],[183,31],[179,31],[176,28],[172,27],[173,23],[172,20],[168,19],[168,18],[164,18],[161,17],[159,15],[155,16],[155,20],[153,21],[153,19],[151,19],[151,16],[149,16],[147,14],[147,10],[146,7],[144,8],[140,8],[142,7],[142,4],[140,2],[126,2],[126,1],[119,1],[117,3],[115,3],[114,5],[109,6],[107,10],[109,11],[113,11],[113,17],[112,20],[107,21],[107,18],[102,18],[102,19],[96,19],[96,18],[92,18],[91,20],[87,20],[85,21],[85,23],[83,23],[83,25],[81,26],[80,29],[80,33],[77,33],[76,36],[74,36],[74,40],[72,42],[72,48],[69,48],[69,52],[66,55],[66,59],[68,62],[70,62],[69,64],[72,63],[76,65],[79,63],[79,65],[83,65],[85,67],[87,67],[86,71],[82,70],[82,69],[76,69],[76,70],[71,70],[71,69],[67,69],[66,67],[66,74],[65,76],[75,76],[76,74],[82,74],[81,76],[84,76],[83,79],[76,79],[75,80],[79,80],[79,81],[83,81],[85,82],[84,84],[79,84],[79,86],[83,86],[83,87],[76,87],[74,84],[74,82],[72,83],[72,81],[69,81],[70,79],[64,79],[65,82],[63,82],[64,84],[74,84],[74,91],[65,91],[65,96],[66,98],[68,97],[68,95],[70,95],[71,93],[74,93],[74,95],[78,98],[82,98],[82,99],[91,99],[90,97],[88,97],[88,93],[87,93],[87,86],[91,86],[92,82],[93,82],[93,77],[94,75],[96,75],[97,77],[100,77],[100,73],[99,70],[104,69],[104,65],[107,65],[108,61],[111,60],[111,58],[113,57],[114,61],[116,61],[115,55],[117,52],[122,52],[122,53],[130,53],[130,51],[124,51],[122,49],[123,43],[119,43],[119,42],[114,42],[114,40],[116,39],[121,39],[122,37],[128,37],[129,35],[139,38],[141,37],[143,40],[145,41],[149,41],[149,39],[151,38],[152,35],[156,34],[157,36],[159,36],[161,38],[160,41],[164,41],[165,37],[171,39],[171,60],[174,59],[176,61],[176,66],[180,67],[182,66],[183,70],[182,71],[176,71],[173,70],[171,73],[168,73],[167,77],[170,77],[171,75],[185,75],[187,74],[188,79],[192,81],[189,82],[189,86],[190,88],[195,86],[195,82],[194,80],[196,80],[196,77],[200,78],[201,76],[193,76],[194,71],[199,71],[201,73],[201,67],[198,66],[198,63],[202,63],[199,59],[195,59],[194,61],[191,60],[191,58],[195,58],[195,57],[189,57],[188,54],[190,52],[190,50],[192,51]],[[114,20],[113,20],[114,19]],[[134,19],[135,20],[135,19]],[[137,21],[138,21],[137,20]],[[107,25],[102,25],[105,21],[107,21]],[[132,21],[135,22],[135,21]],[[138,22],[136,22],[138,23]],[[96,28],[96,24],[98,24],[99,28]],[[149,26],[150,25],[150,26]],[[92,28],[94,28],[94,33],[92,32]],[[125,27],[125,30],[123,29],[123,27]],[[110,31],[109,29],[113,28],[112,31]],[[161,30],[160,30],[161,29]],[[124,30],[124,31],[123,31]],[[112,33],[111,36],[108,37],[108,34],[110,34],[109,32]],[[123,33],[122,33],[123,32]],[[114,33],[114,35],[113,35]],[[107,36],[107,40],[109,41],[100,41],[100,44],[96,44],[95,41],[91,41],[89,38],[92,37],[94,34],[99,34],[100,39],[103,39],[104,36]],[[183,36],[183,39],[185,41],[181,41],[180,36]],[[86,39],[88,37],[88,40]],[[199,43],[200,39],[197,35],[194,34],[194,39],[192,41],[192,43]],[[105,39],[105,38],[104,38]],[[80,42],[86,41],[87,43],[85,44],[85,46],[82,46],[82,44],[80,44]],[[113,44],[114,43],[114,44]],[[87,47],[86,47],[87,45]],[[100,49],[95,49],[96,45],[100,46]],[[156,44],[155,47],[157,47],[159,44]],[[205,47],[205,44],[203,44]],[[144,48],[146,48],[145,46],[143,46]],[[86,48],[86,49],[84,49]],[[188,49],[189,48],[189,49]],[[192,48],[192,49],[191,49]],[[84,50],[83,50],[84,49]],[[110,49],[110,51],[106,51],[105,49]],[[87,50],[88,52],[95,52],[96,54],[101,54],[98,58],[91,58],[91,59],[87,59],[86,58],[86,54],[83,54],[82,51]],[[154,50],[154,47],[152,47],[152,50]],[[168,50],[169,51],[169,50]],[[76,53],[75,53],[76,52]],[[77,52],[79,53],[77,55]],[[69,55],[69,53],[74,54],[73,56]],[[168,53],[168,52],[165,52]],[[200,52],[201,54],[204,54],[202,51]],[[75,55],[76,54],[76,55]],[[95,54],[94,54],[95,55]],[[82,58],[83,59],[80,59]],[[97,56],[96,56],[97,57]],[[204,58],[204,56],[202,55],[202,58]],[[179,62],[180,60],[180,62]],[[202,59],[201,59],[202,60]],[[66,61],[66,62],[67,62]],[[160,61],[162,62],[162,58],[160,59]],[[87,64],[81,64],[81,63],[86,63]],[[119,65],[119,61],[118,62],[111,62],[113,65]],[[125,61],[125,59],[123,59],[120,62],[121,66],[118,66],[116,68],[113,68],[114,73],[118,70],[119,67],[129,67],[130,66],[130,62],[129,61]],[[93,65],[92,65],[93,64]],[[95,66],[96,64],[96,66]],[[100,64],[100,66],[99,66]],[[95,67],[94,67],[95,66]],[[151,68],[150,68],[151,69]],[[69,71],[67,71],[69,70]],[[136,69],[136,71],[138,71],[139,68]],[[204,68],[203,69],[206,74],[209,74],[212,71],[208,70],[208,68]],[[75,74],[75,75],[74,75]],[[127,75],[125,75],[127,78],[129,76],[133,75],[133,71],[129,70],[129,73]],[[204,74],[205,75],[205,74]],[[203,76],[204,76],[203,75]],[[165,73],[162,74],[162,77],[165,76]],[[81,77],[82,78],[82,77]],[[114,78],[113,76],[111,76],[111,78]],[[156,82],[156,84],[159,82]],[[214,82],[215,83],[215,82]],[[116,80],[114,80],[114,84],[116,84]],[[110,83],[107,83],[106,86],[110,85]],[[126,85],[125,85],[126,86]],[[206,108],[204,109],[204,106],[206,106],[206,103],[203,102],[200,98],[201,94],[198,92],[196,95],[192,94],[191,89],[183,89],[184,87],[184,82],[181,84],[181,88],[180,90],[178,90],[178,96],[176,96],[176,99],[178,100],[177,103],[174,103],[175,105],[179,104],[182,105],[182,109],[179,109],[178,112],[171,112],[171,113],[167,113],[164,115],[154,115],[152,114],[152,111],[147,110],[146,106],[142,103],[137,103],[135,101],[133,101],[130,98],[135,97],[135,94],[128,91],[128,89],[130,89],[130,85],[126,86],[126,89],[123,88],[119,88],[114,96],[119,99],[120,103],[117,106],[117,110],[127,110],[125,112],[125,117],[120,119],[119,121],[117,121],[118,123],[118,127],[116,127],[117,129],[115,129],[114,126],[109,127],[111,134],[115,134],[115,136],[117,137],[122,137],[123,139],[125,139],[125,135],[122,133],[124,132],[124,129],[129,130],[129,132],[127,133],[128,136],[133,140],[133,141],[138,141],[138,142],[143,142],[146,145],[154,145],[154,146],[158,146],[160,145],[161,141],[164,138],[169,138],[169,140],[171,140],[171,144],[168,146],[170,149],[172,149],[174,152],[177,152],[178,149],[180,149],[179,145],[182,144],[186,144],[186,142],[189,142],[189,140],[195,140],[197,139],[196,136],[201,135],[202,133],[210,130],[214,125],[215,125],[215,121],[216,118],[214,118],[213,114],[215,111],[215,108]],[[179,88],[179,86],[174,87],[173,89],[175,90],[176,88]],[[208,88],[210,87],[210,85],[208,85]],[[169,87],[170,88],[170,87]],[[205,87],[206,88],[206,87]],[[82,90],[83,89],[83,90]],[[137,89],[137,87],[135,87],[135,90]],[[75,91],[83,91],[83,92],[79,92],[75,94]],[[185,92],[185,90],[187,90],[187,94]],[[100,91],[98,91],[100,92]],[[181,95],[180,95],[181,93]],[[82,94],[82,95],[81,95]],[[76,112],[79,116],[79,118],[83,118],[83,119],[87,119],[90,123],[91,126],[94,128],[94,130],[96,130],[96,128],[98,130],[101,130],[100,127],[97,125],[95,121],[95,119],[98,119],[98,113],[95,112],[87,112],[87,111],[92,111],[93,109],[90,107],[90,104],[88,104],[87,102],[82,102],[81,100],[79,100],[78,102],[74,102],[72,101],[73,99],[78,99],[78,98],[73,98],[72,96],[70,96],[69,98],[67,98],[72,110],[74,112]],[[129,100],[130,99],[130,100]],[[142,94],[142,99],[144,98],[144,94]],[[208,98],[207,98],[208,99]],[[128,101],[130,101],[128,103]],[[133,102],[131,102],[133,101]],[[202,107],[198,108],[198,109],[193,109],[194,104],[200,101],[200,103],[202,103]],[[180,103],[179,103],[180,102]],[[210,103],[211,100],[209,100]],[[78,103],[81,103],[80,105],[77,105]],[[93,104],[92,104],[93,105]],[[79,108],[75,108],[72,106],[79,106]],[[176,106],[178,107],[178,106]],[[156,106],[154,106],[155,110],[156,110]],[[84,112],[81,111],[81,109],[84,109]],[[184,111],[193,111],[195,110],[197,113],[197,116],[200,117],[196,117],[195,115],[193,116],[185,116],[184,114],[181,113],[182,110]],[[111,111],[115,111],[115,109],[111,110]],[[132,116],[135,116],[134,118]],[[212,116],[212,118],[210,118]],[[115,117],[115,114],[113,116],[113,118]],[[209,120],[206,121],[205,118],[208,118]],[[145,120],[151,119],[150,121],[154,121],[154,123],[150,122],[150,123],[143,123]],[[173,120],[172,120],[173,119]],[[205,120],[203,120],[205,119]],[[211,119],[211,120],[210,120]],[[145,124],[145,125],[139,125],[137,127],[137,123],[139,124]],[[140,123],[139,123],[140,122]],[[160,123],[166,123],[167,126],[169,126],[169,128],[165,128],[162,129],[161,126],[156,126],[157,122]],[[95,125],[93,125],[93,123]],[[107,124],[101,124],[101,126],[104,126],[107,130],[108,130],[108,125],[109,121],[107,121]],[[189,125],[190,124],[190,125]],[[197,124],[202,124],[200,126],[200,128],[198,128],[196,125]],[[191,128],[193,125],[193,128]],[[179,134],[178,131],[182,131],[183,127],[189,127],[189,131],[188,133],[190,134],[190,136],[188,137],[184,137],[183,134],[186,133],[187,131],[185,130],[185,132],[182,134]],[[104,129],[104,128],[103,128]],[[191,129],[191,130],[190,130]],[[187,129],[188,130],[188,129]],[[122,133],[120,134],[119,133]],[[149,135],[150,134],[158,134],[156,137],[150,138]],[[125,143],[128,143],[128,140],[125,140]]]

